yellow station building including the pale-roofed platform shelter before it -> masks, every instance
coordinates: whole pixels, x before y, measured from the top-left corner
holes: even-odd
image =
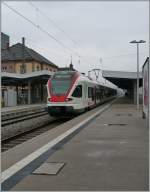
[[[22,43],[10,46],[1,33],[2,106],[46,101],[46,82],[58,66]]]

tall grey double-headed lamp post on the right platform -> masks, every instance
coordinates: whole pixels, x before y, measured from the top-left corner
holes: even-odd
[[[137,109],[139,109],[139,43],[146,43],[144,40],[140,41],[131,41],[130,43],[135,43],[137,45]]]

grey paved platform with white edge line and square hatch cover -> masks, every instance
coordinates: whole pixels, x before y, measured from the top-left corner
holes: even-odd
[[[102,110],[104,107],[105,110]],[[102,110],[101,113],[98,110]],[[86,121],[92,115],[93,118]],[[50,142],[52,137],[56,138],[60,134],[62,137],[63,131],[70,131],[69,127],[75,129],[81,121],[85,121],[85,125],[72,135],[68,134],[62,142],[59,138],[59,144],[53,145],[49,153],[41,156],[41,151],[34,153],[40,146]],[[25,164],[27,159],[22,162],[20,160],[27,156],[31,160],[29,154],[32,153],[33,156],[39,153],[38,161],[29,161],[26,168],[19,170],[18,167]],[[6,179],[3,182],[2,189],[148,191],[148,159],[148,122],[142,119],[141,109],[138,111],[128,99],[119,98],[107,108],[100,106],[64,123],[51,134],[38,136],[2,154],[3,172],[6,170],[11,175],[12,170],[19,170],[18,175],[15,173],[12,179],[10,177],[9,181]]]

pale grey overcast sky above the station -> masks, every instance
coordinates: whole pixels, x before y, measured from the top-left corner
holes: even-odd
[[[59,67],[68,66],[72,55],[74,67],[81,72],[92,68],[136,71],[136,45],[131,40],[147,41],[140,45],[140,66],[148,56],[148,2],[6,3],[67,48],[2,4],[2,32],[10,36],[11,45],[24,36],[29,48]]]

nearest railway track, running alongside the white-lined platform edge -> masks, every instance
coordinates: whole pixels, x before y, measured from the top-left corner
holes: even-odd
[[[21,133],[9,139],[3,140],[1,143],[1,152],[7,151],[15,147],[16,145],[19,145],[29,139],[32,139],[33,137],[36,137],[46,131],[49,131],[50,129],[53,129],[66,121],[68,121],[68,119],[55,119],[49,125],[32,129],[30,131]]]

